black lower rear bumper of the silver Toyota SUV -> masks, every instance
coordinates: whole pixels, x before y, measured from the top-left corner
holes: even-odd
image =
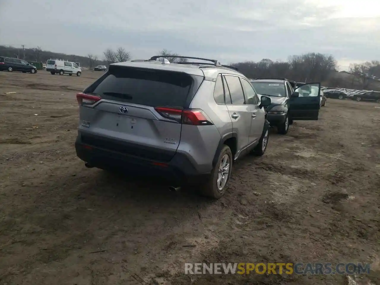
[[[89,165],[115,171],[125,171],[142,177],[152,176],[170,180],[177,184],[199,182],[210,173],[199,173],[184,154],[176,153],[168,162],[150,160],[119,151],[103,149],[82,142],[78,135],[75,141],[77,156]]]

